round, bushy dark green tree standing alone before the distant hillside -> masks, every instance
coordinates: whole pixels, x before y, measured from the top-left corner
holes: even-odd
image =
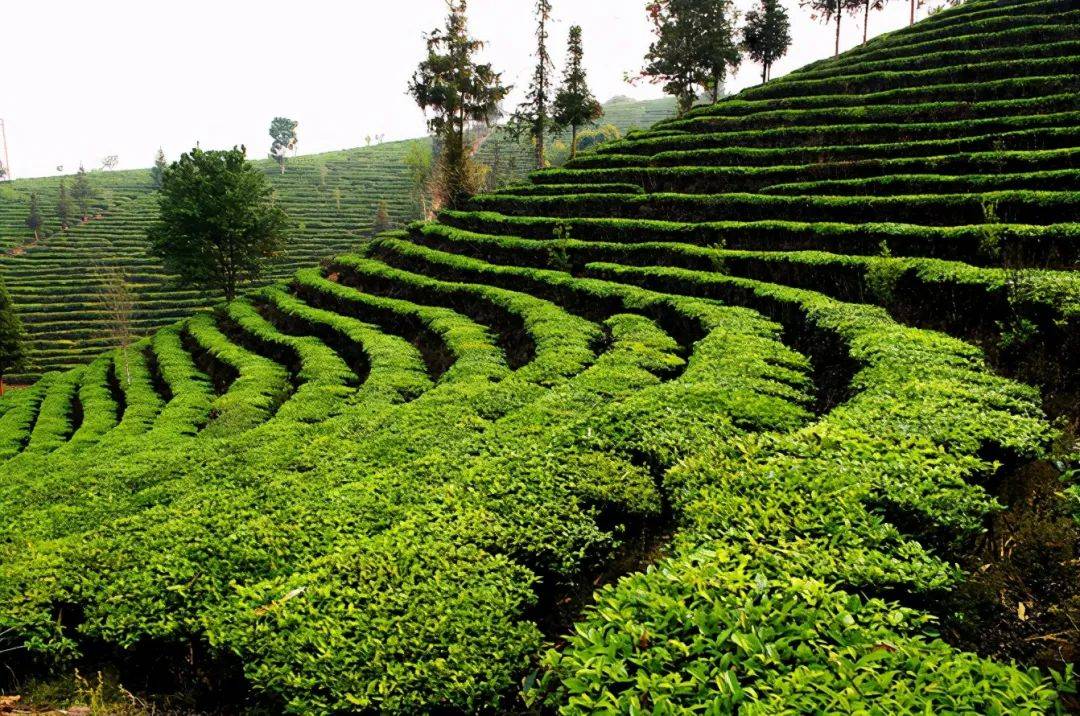
[[[183,284],[220,291],[257,279],[284,247],[285,213],[244,147],[181,154],[165,170],[151,253]]]

